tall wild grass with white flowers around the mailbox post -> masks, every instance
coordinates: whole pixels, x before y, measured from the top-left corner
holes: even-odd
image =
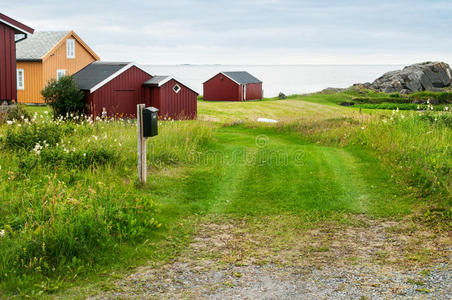
[[[150,165],[189,163],[212,139],[197,121],[161,122]],[[53,120],[0,126],[0,288],[24,292],[114,260],[158,230],[158,203],[137,183],[131,120]],[[1,289],[0,289],[1,290]]]

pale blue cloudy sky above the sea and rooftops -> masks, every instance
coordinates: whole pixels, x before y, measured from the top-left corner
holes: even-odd
[[[73,29],[106,61],[452,63],[452,0],[0,0],[0,12]]]

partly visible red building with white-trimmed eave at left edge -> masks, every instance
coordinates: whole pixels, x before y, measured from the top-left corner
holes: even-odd
[[[0,104],[17,99],[16,43],[34,30],[0,13]],[[18,36],[16,34],[23,35]]]

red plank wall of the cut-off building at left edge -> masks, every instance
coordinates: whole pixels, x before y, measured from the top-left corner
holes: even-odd
[[[16,99],[16,86],[14,30],[0,23],[0,101]]]

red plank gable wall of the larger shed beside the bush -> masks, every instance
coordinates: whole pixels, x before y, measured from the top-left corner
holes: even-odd
[[[88,113],[100,116],[105,107],[109,117],[135,117],[137,104],[149,102],[143,83],[151,78],[139,68],[131,67],[94,93],[86,94]]]

